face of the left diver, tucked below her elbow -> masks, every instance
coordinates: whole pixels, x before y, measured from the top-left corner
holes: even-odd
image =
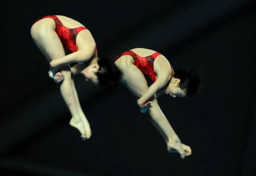
[[[98,77],[95,75],[95,73],[98,71],[99,65],[98,63],[93,63],[87,66],[85,69],[81,71],[81,74],[85,76],[86,81],[90,81],[93,84],[98,85]]]

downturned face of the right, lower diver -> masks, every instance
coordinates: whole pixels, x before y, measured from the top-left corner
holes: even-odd
[[[180,79],[172,77],[169,85],[164,91],[165,94],[170,95],[171,97],[186,97],[186,92],[179,87]]]

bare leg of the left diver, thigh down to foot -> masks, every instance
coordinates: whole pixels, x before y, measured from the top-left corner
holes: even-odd
[[[46,18],[43,20],[48,20],[50,23],[50,20],[52,19]],[[38,21],[32,26],[31,36],[35,45],[44,54],[47,61],[50,62],[56,58],[64,57],[65,51],[55,30],[53,28],[45,27],[45,25],[42,24],[44,22],[43,20]],[[54,23],[53,20],[52,22]],[[65,76],[65,79],[60,85],[61,95],[72,115],[71,121],[74,122],[72,126],[80,131],[83,138],[86,138],[87,133],[90,133],[90,129],[89,131],[85,130],[84,122],[80,118],[81,112],[76,107],[77,94],[75,94],[73,90],[73,78],[71,76],[70,66],[63,66],[60,68],[60,71]]]

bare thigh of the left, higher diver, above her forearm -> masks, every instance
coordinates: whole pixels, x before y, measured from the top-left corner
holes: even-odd
[[[36,22],[30,30],[31,37],[48,62],[65,56],[60,38],[55,32],[55,21],[44,18]]]

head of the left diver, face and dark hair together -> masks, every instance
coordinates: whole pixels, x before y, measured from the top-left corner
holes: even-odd
[[[108,58],[94,58],[81,73],[87,81],[101,87],[115,87],[122,78],[122,71]]]

